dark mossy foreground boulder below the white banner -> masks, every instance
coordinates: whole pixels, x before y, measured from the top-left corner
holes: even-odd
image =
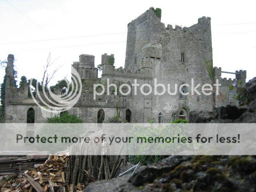
[[[256,190],[256,159],[241,156],[170,156],[133,176],[102,180],[84,191],[233,192]]]

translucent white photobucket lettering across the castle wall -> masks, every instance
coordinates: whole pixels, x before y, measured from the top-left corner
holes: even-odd
[[[185,98],[186,96],[188,96],[189,94],[191,95],[206,95],[209,96],[211,95],[213,92],[215,92],[216,95],[219,95],[219,87],[221,86],[221,84],[219,84],[218,79],[216,80],[216,84],[196,84],[194,83],[194,78],[191,79],[191,85],[190,84],[185,84],[182,83],[178,86],[178,84],[162,84],[162,83],[157,83],[157,79],[154,78],[154,88],[152,88],[152,86],[150,84],[138,84],[137,80],[134,80],[134,84],[132,84],[132,87],[129,84],[121,84],[119,86],[119,88],[117,87],[116,84],[110,84],[109,79],[107,78],[107,86],[105,88],[105,86],[103,84],[94,84],[93,85],[93,98],[94,100],[96,100],[96,96],[101,96],[105,93],[109,96],[110,95],[110,88],[114,91],[112,91],[112,93],[114,93],[115,95],[117,95],[117,90],[119,91],[119,93],[123,96],[128,96],[131,94],[132,90],[134,90],[134,95],[137,95],[137,89],[140,91],[140,94],[142,95],[150,95],[153,94],[154,95],[164,95],[164,94],[169,94],[169,95],[176,95],[176,94],[180,94],[181,98]],[[100,89],[99,89],[100,88]],[[106,90],[105,90],[106,89]],[[191,90],[191,92],[188,91],[188,89]],[[123,92],[123,90],[126,90],[126,92]],[[202,92],[202,94],[200,93]]]

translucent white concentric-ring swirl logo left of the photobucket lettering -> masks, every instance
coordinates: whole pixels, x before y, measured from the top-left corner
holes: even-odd
[[[72,108],[76,102],[78,102],[81,93],[82,93],[82,81],[80,75],[76,71],[74,67],[71,67],[71,83],[69,84],[68,80],[64,79],[67,88],[63,94],[54,94],[50,88],[44,87],[42,84],[42,91],[39,91],[38,82],[36,82],[36,97],[39,98],[40,104],[38,100],[35,98],[32,90],[32,80],[30,80],[30,93],[34,100],[34,102],[42,109],[47,112],[52,113],[60,113]],[[71,89],[70,89],[71,85]],[[42,96],[41,96],[42,94]]]

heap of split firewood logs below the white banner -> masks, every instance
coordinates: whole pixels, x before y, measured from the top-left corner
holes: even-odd
[[[78,183],[67,185],[65,171],[69,157],[66,155],[50,155],[44,164],[37,164],[35,168],[26,170],[16,182],[4,186],[2,192],[76,192],[82,191],[84,185]]]

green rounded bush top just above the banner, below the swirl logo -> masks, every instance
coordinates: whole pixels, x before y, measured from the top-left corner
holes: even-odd
[[[47,118],[48,123],[82,123],[83,120],[74,114],[68,114],[68,112],[62,112],[60,116]]]

